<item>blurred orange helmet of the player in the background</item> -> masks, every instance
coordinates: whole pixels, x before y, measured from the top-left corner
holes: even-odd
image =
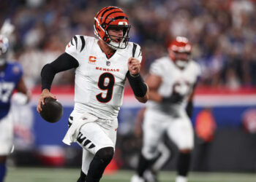
[[[192,46],[186,37],[177,36],[176,39],[170,42],[168,52],[171,60],[176,63],[178,68],[185,68],[189,62]]]

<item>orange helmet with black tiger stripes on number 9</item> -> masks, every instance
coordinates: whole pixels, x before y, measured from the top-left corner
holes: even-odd
[[[111,40],[108,28],[122,28],[124,33],[118,37],[121,38],[119,43]],[[94,34],[115,50],[127,47],[130,28],[127,15],[118,7],[104,7],[94,17]]]

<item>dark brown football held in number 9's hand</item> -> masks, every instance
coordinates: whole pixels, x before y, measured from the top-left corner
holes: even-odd
[[[40,115],[42,119],[45,119],[47,122],[58,122],[61,119],[63,114],[63,108],[61,103],[58,100],[54,100],[53,98],[45,98],[45,105],[42,105],[42,111]]]

